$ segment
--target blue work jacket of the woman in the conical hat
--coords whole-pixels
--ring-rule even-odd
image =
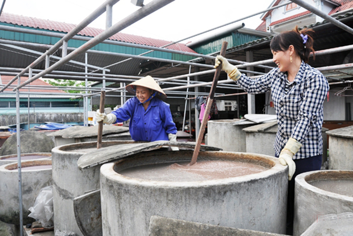
[[[135,141],[169,140],[168,133],[177,133],[169,104],[158,98],[151,100],[146,111],[134,97],[111,113],[116,116],[115,123],[130,119],[130,134]]]

